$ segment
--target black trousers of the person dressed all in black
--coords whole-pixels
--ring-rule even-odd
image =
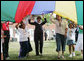
[[[40,53],[42,53],[43,49],[43,33],[39,35],[35,34],[34,42],[35,42],[36,55],[39,55],[39,45],[40,45]]]

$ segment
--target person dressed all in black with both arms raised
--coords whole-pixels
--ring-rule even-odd
[[[46,18],[44,18],[44,20],[45,21],[41,23],[40,16],[37,17],[37,22],[31,22],[31,18],[29,19],[29,24],[35,25],[34,42],[35,42],[36,56],[39,55],[39,44],[40,44],[40,54],[42,55],[42,48],[43,48],[43,29],[42,29],[42,26],[47,22]]]

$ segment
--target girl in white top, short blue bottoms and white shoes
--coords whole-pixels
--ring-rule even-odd
[[[70,56],[75,56],[75,28],[72,23],[69,24],[69,29],[67,33],[67,45],[69,46]]]

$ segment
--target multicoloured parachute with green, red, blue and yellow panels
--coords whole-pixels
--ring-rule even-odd
[[[1,1],[1,21],[19,23],[27,15],[52,12],[83,25],[83,1]]]

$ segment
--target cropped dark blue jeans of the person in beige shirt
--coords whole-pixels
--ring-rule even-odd
[[[56,43],[57,43],[57,49],[56,51],[59,52],[62,47],[62,51],[65,51],[65,44],[66,44],[66,37],[61,34],[56,34]]]

